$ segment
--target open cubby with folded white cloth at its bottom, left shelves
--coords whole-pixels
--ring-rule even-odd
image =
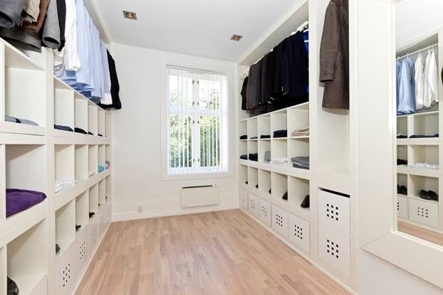
[[[56,144],[54,146],[56,181],[75,180],[75,146]]]

